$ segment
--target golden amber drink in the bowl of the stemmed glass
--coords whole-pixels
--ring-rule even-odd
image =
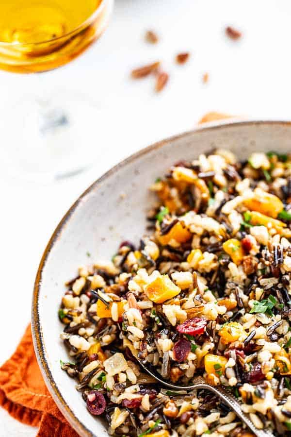
[[[24,73],[69,62],[104,30],[107,4],[106,0],[0,0],[0,68]]]

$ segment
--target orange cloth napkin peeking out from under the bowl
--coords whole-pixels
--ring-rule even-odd
[[[210,112],[199,124],[229,117]],[[78,437],[45,385],[34,355],[30,325],[15,353],[0,368],[0,405],[20,422],[39,426],[38,437]]]

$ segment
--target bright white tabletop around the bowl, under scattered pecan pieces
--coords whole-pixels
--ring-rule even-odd
[[[34,276],[49,236],[97,177],[132,152],[193,128],[211,110],[291,118],[290,17],[288,0],[116,0],[103,37],[70,65],[46,73],[43,84],[52,94],[65,88],[98,102],[93,139],[98,162],[90,171],[51,185],[24,183],[1,169],[0,363],[13,353],[30,320]],[[227,39],[226,25],[241,29],[243,38]],[[146,29],[161,35],[159,44],[144,42]],[[180,51],[191,52],[184,66],[173,62]],[[160,95],[153,92],[152,78],[129,78],[133,67],[156,59],[170,74]],[[206,71],[210,80],[203,85]],[[0,72],[0,126],[5,106],[33,94],[36,81],[33,75]],[[98,130],[100,119],[103,129]],[[0,423],[0,436],[36,435],[35,428],[1,409]]]

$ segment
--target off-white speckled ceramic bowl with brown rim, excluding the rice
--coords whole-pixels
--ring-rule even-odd
[[[60,368],[68,358],[58,319],[66,280],[80,264],[111,259],[122,240],[138,242],[146,229],[152,198],[148,186],[181,159],[194,159],[214,147],[239,158],[252,151],[290,151],[291,124],[241,121],[198,128],[147,147],[118,164],[91,185],[66,213],[41,259],[32,302],[35,353],[49,391],[81,436],[106,436],[106,423],[86,409],[76,382]],[[87,253],[91,257],[87,257]]]

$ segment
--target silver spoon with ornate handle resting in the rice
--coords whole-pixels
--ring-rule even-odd
[[[245,423],[257,437],[274,437],[274,435],[270,431],[258,429],[249,419],[249,417],[245,413],[243,413],[241,405],[237,401],[237,399],[228,391],[226,391],[223,387],[210,386],[210,384],[206,383],[201,376],[197,376],[196,378],[194,378],[193,384],[191,386],[177,386],[161,379],[160,376],[157,376],[151,370],[147,369],[147,367],[140,360],[138,360],[138,362],[149,375],[151,375],[165,387],[169,387],[174,390],[193,390],[194,388],[204,388],[212,391],[212,393],[215,393],[224,403],[226,403],[226,405],[228,405],[236,413],[236,415],[242,420],[242,422]]]

